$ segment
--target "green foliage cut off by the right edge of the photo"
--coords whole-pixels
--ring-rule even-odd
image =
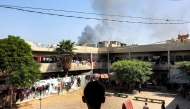
[[[175,69],[180,69],[182,73],[187,73],[190,75],[190,62],[189,61],[183,61],[183,62],[178,62],[175,66]]]

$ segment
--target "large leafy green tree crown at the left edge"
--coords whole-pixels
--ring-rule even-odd
[[[32,49],[20,37],[9,35],[0,39],[0,69],[7,72],[12,85],[30,86],[41,76],[41,64],[33,60]]]

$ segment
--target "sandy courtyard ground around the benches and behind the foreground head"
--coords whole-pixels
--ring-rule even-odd
[[[109,92],[115,92],[115,90],[109,90]],[[182,99],[179,94],[174,96],[164,96],[161,95],[161,93],[166,92],[144,90],[141,93],[129,95],[128,98],[106,96],[106,101],[102,105],[102,109],[122,109],[122,103],[128,99],[132,101],[134,109],[142,109],[145,101],[134,100],[134,96],[163,99],[166,102],[166,109],[175,109],[177,104],[180,106],[180,109],[190,109],[190,101],[187,99]],[[41,109],[87,109],[86,104],[82,102],[82,94],[83,89],[79,89],[70,93],[63,93],[60,95],[42,98]],[[147,101],[147,103],[149,109],[161,108],[160,103],[152,103],[150,101]],[[15,109],[40,109],[40,100],[34,99],[32,101],[21,103],[18,105],[18,108]]]

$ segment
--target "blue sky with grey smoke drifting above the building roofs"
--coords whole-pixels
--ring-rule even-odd
[[[74,16],[63,17],[0,7],[0,38],[14,35],[44,44],[58,44],[62,39],[70,39],[77,44],[106,40],[151,44],[190,32],[189,4],[189,0],[0,0],[0,5],[75,11],[25,8]]]

